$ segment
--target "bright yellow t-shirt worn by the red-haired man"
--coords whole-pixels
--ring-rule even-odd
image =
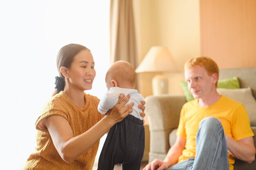
[[[198,99],[194,99],[184,104],[180,113],[177,136],[186,138],[186,145],[178,162],[185,161],[190,157],[195,157],[195,138],[199,128],[199,122],[205,117],[216,117],[220,119],[225,134],[234,138],[236,141],[254,136],[250,128],[247,111],[243,104],[222,95],[215,104],[200,107],[198,106]],[[233,170],[235,159],[232,155],[228,155],[229,169]]]

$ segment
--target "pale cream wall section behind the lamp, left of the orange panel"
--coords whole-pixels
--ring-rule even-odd
[[[167,46],[177,64],[177,73],[168,73],[169,93],[184,94],[180,80],[183,65],[199,56],[199,0],[139,0],[134,1],[140,63],[151,46]],[[152,95],[151,79],[157,73],[139,73],[138,89],[145,97]]]

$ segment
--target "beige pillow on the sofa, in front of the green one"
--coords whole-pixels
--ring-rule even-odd
[[[225,95],[243,104],[248,112],[251,126],[256,126],[256,100],[252,96],[251,88],[217,88],[217,91],[219,94]]]

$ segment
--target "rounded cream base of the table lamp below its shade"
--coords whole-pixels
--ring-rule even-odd
[[[152,79],[153,95],[168,93],[168,78],[165,75],[156,75]]]

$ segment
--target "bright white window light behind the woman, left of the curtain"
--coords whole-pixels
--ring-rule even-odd
[[[56,55],[62,46],[76,43],[91,50],[97,74],[92,90],[85,93],[98,98],[106,93],[109,13],[110,0],[0,2],[3,169],[22,169],[34,152],[34,124],[54,91]]]

